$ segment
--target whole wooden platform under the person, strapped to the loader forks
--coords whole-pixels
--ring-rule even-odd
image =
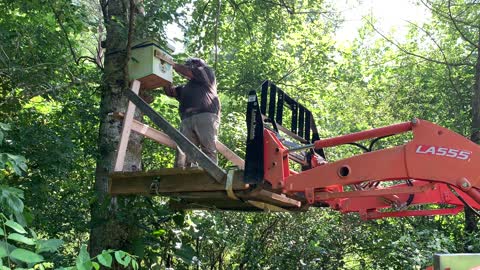
[[[243,171],[232,171],[231,190],[226,179],[219,182],[203,169],[171,168],[147,172],[114,172],[110,175],[112,195],[166,196],[175,209],[219,209],[237,211],[304,211],[297,198],[274,193],[243,182]]]

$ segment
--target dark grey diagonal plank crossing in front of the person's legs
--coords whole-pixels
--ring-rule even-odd
[[[132,101],[138,109],[140,109],[146,116],[148,116],[152,122],[160,127],[178,146],[189,156],[192,160],[195,160],[200,167],[210,174],[217,182],[225,183],[227,174],[218,167],[209,157],[207,157],[197,146],[190,142],[182,133],[174,128],[167,120],[165,120],[160,114],[152,109],[142,98],[140,98],[135,92],[127,90],[125,95]]]

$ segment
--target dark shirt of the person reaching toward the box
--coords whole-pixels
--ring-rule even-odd
[[[193,78],[183,86],[176,87],[180,102],[180,117],[185,119],[199,113],[220,114],[215,73],[210,67],[194,67]]]

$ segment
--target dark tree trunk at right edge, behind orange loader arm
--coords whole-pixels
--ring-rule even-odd
[[[477,61],[475,65],[475,83],[472,95],[472,136],[471,140],[480,144],[480,35],[477,44]],[[475,232],[478,230],[478,218],[472,210],[465,207],[465,231]]]

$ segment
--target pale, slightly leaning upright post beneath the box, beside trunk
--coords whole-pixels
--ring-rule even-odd
[[[140,89],[140,81],[134,80],[132,83],[132,92],[138,94]],[[118,143],[117,157],[115,159],[114,171],[123,171],[123,164],[125,163],[125,154],[127,152],[128,140],[130,138],[130,131],[132,130],[133,116],[135,114],[136,106],[133,102],[128,101],[127,112],[123,118],[122,135]]]

